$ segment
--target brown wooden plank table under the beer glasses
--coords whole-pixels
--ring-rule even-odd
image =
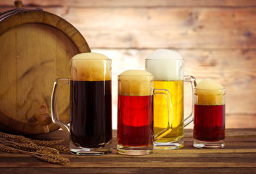
[[[224,149],[195,149],[192,130],[185,130],[185,146],[155,150],[145,156],[125,156],[114,150],[103,156],[63,154],[67,165],[41,162],[25,154],[0,152],[0,173],[256,173],[256,128],[227,129]],[[46,140],[68,138],[63,130],[34,136]]]

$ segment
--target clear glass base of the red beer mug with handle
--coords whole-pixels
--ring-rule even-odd
[[[117,153],[126,155],[146,155],[152,154],[153,146],[122,146],[117,144]]]

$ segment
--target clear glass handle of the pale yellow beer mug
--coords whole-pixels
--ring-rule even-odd
[[[184,76],[184,81],[190,83],[191,91],[192,91],[191,112],[190,112],[189,116],[184,119],[184,127],[186,127],[186,125],[189,125],[189,123],[191,123],[194,120],[194,88],[195,88],[195,86],[197,86],[197,81],[196,81],[196,78],[194,78],[193,76],[189,76],[189,75]]]

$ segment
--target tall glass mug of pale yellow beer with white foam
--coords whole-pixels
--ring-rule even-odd
[[[191,76],[184,76],[184,60],[181,54],[172,50],[157,49],[149,54],[146,58],[146,70],[154,75],[154,88],[165,88],[170,91],[173,105],[173,130],[155,141],[154,149],[179,149],[184,146],[183,127],[193,121],[193,107],[189,117],[184,120],[183,83],[191,83],[193,97],[196,80]],[[166,113],[165,98],[154,96],[154,133],[159,133],[168,124]]]

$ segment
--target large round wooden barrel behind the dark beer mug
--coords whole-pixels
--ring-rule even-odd
[[[85,38],[55,14],[16,7],[0,13],[0,48],[0,130],[57,130],[50,119],[54,80],[70,77],[70,59],[90,51]],[[59,91],[58,107],[69,123],[69,86]]]

